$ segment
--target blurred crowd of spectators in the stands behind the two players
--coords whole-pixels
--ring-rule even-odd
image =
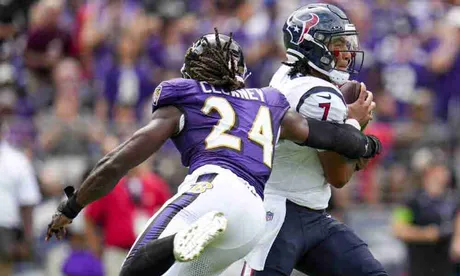
[[[285,57],[284,21],[312,2],[0,1],[0,274],[116,275],[111,267],[187,173],[174,146],[168,142],[91,205],[65,243],[44,243],[62,188],[78,187],[104,153],[149,120],[153,89],[180,77],[197,37],[213,27],[233,32],[252,72],[247,86],[266,86]],[[385,147],[334,190],[331,211],[346,221],[355,206],[398,206],[393,231],[409,254],[415,234],[401,225],[419,224],[430,238],[422,241],[451,237],[460,177],[460,1],[321,2],[344,9],[360,32],[365,59],[354,78],[374,93],[377,112],[366,131]],[[438,208],[442,220],[425,219],[420,202],[449,208]],[[460,236],[457,243],[445,246],[453,260]]]

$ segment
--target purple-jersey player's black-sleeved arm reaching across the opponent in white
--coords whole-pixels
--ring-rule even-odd
[[[293,111],[288,111],[283,118],[280,139],[312,148],[332,150],[351,159],[373,157],[381,149],[380,141],[376,137],[365,136],[353,126],[305,119]]]

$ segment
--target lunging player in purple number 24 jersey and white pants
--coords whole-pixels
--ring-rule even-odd
[[[187,51],[183,78],[154,91],[153,117],[103,157],[78,191],[67,187],[46,239],[128,170],[172,139],[189,167],[178,193],[149,220],[121,275],[218,275],[257,244],[265,226],[262,197],[278,139],[372,157],[380,142],[349,125],[305,119],[276,89],[244,88],[246,65],[231,35],[208,34]],[[371,102],[362,101],[359,116]],[[356,118],[360,119],[360,118]]]

